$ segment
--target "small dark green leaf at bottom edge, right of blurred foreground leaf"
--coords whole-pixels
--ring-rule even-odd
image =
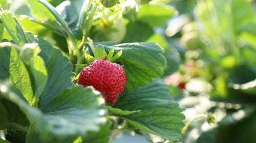
[[[82,142],[90,143],[109,143],[109,136],[111,122],[106,122],[106,124],[100,126],[98,132],[89,131],[85,136],[82,137]]]

